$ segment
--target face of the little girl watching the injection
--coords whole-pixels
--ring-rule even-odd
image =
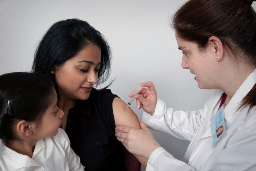
[[[64,112],[57,107],[57,94],[54,90],[52,104],[45,110],[40,124],[35,128],[37,139],[57,135],[63,115]]]

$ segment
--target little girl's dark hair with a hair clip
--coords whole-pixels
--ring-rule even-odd
[[[42,114],[53,102],[53,93],[52,81],[42,74],[13,72],[1,75],[0,139],[17,139],[13,130],[20,120],[39,124]]]

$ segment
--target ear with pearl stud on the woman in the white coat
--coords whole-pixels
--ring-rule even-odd
[[[223,58],[223,44],[218,37],[211,36],[208,39],[208,48],[215,56],[216,61],[221,61]]]

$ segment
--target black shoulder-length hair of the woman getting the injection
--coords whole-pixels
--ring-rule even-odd
[[[110,74],[110,47],[102,34],[86,21],[67,19],[54,23],[42,37],[35,51],[32,72],[43,73],[55,83],[54,65],[62,66],[90,43],[101,49],[101,65],[98,72],[98,84],[105,82]]]

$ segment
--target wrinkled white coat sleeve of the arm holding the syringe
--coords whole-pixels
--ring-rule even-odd
[[[158,99],[154,115],[151,116],[144,112],[142,121],[153,130],[191,141],[203,122],[208,103],[204,109],[185,112],[166,108],[166,104]]]

